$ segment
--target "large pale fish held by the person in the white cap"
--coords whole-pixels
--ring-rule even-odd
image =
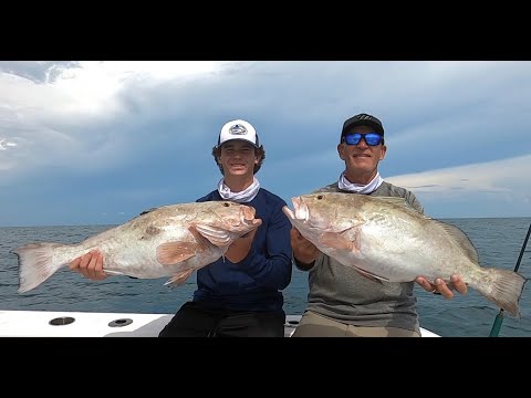
[[[95,249],[104,254],[107,275],[169,276],[165,285],[175,287],[222,256],[235,240],[257,229],[262,221],[254,216],[254,208],[231,201],[178,203],[143,212],[76,244],[29,243],[11,251],[19,261],[18,291],[39,286]]]

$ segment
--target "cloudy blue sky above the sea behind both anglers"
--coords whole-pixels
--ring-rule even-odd
[[[236,118],[264,146],[260,185],[291,205],[337,180],[358,113],[384,125],[381,176],[427,216],[531,216],[530,61],[0,61],[0,227],[195,201]]]

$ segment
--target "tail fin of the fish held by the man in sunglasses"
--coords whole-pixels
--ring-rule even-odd
[[[477,290],[500,308],[507,311],[513,317],[520,318],[519,302],[528,279],[510,270],[493,268],[483,270],[488,271],[490,285],[488,291],[485,286]]]

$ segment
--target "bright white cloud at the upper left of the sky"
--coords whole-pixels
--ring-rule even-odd
[[[147,128],[138,130],[157,117],[143,105],[159,105],[157,97],[167,97],[167,81],[183,82],[216,67],[214,62],[184,61],[0,63],[6,94],[0,103],[0,170],[12,172],[0,175],[0,182],[42,167],[98,170],[125,161],[134,156],[132,147],[149,138]],[[138,94],[145,97],[135,108],[128,98]]]

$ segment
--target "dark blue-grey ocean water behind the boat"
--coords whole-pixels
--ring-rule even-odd
[[[468,234],[478,250],[480,264],[513,270],[531,218],[446,219]],[[51,241],[75,243],[113,226],[8,227],[0,228],[0,310],[93,311],[122,313],[175,313],[191,298],[195,275],[177,289],[163,286],[165,279],[134,280],[112,276],[93,282],[67,268],[59,270],[37,289],[19,294],[17,256],[9,251],[21,244]],[[531,277],[531,242],[519,272]],[[521,318],[504,314],[500,337],[531,336],[531,292],[527,285]],[[499,308],[469,289],[452,300],[416,289],[420,325],[446,337],[487,337]],[[308,274],[293,269],[284,291],[287,314],[302,314],[308,295]]]

